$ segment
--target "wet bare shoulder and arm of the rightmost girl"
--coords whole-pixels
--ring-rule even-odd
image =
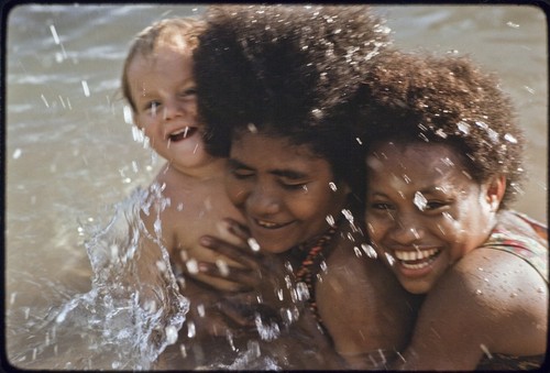
[[[548,286],[524,260],[476,249],[427,295],[405,370],[474,370],[483,354],[546,351]]]

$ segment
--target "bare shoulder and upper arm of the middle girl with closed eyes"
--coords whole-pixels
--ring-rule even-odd
[[[316,300],[337,351],[352,367],[370,367],[370,354],[384,360],[384,353],[403,350],[410,337],[416,299],[384,263],[358,256],[353,246],[331,255]]]

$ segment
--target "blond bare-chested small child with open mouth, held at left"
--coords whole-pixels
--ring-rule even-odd
[[[202,248],[199,237],[231,240],[233,235],[224,234],[221,218],[242,219],[224,191],[226,158],[209,152],[208,134],[197,117],[193,52],[202,29],[204,23],[195,19],[167,19],[144,29],[124,62],[122,91],[135,125],[166,160],[140,209],[144,228],[138,265],[141,278],[146,282],[164,270],[155,265],[162,263],[164,246],[176,276],[186,273],[185,282],[182,276],[178,279],[183,295],[190,300],[187,327],[195,330],[206,311],[210,317],[205,325],[208,333],[222,334],[222,325],[216,322],[217,298],[208,286],[232,290],[234,284],[201,275],[196,263],[205,261],[221,270],[239,265]],[[194,276],[201,286],[195,286]]]

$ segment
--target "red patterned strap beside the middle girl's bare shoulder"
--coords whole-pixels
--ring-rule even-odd
[[[304,244],[297,248],[297,254],[301,257],[300,267],[296,272],[298,282],[306,284],[309,292],[309,308],[314,312],[317,321],[322,326],[321,318],[317,309],[317,301],[315,295],[315,284],[319,270],[322,267],[323,261],[329,256],[332,248],[329,246],[338,227],[331,227],[326,231],[311,246]]]

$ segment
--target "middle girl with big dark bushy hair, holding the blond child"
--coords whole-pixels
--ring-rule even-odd
[[[364,169],[349,101],[355,67],[383,48],[384,28],[363,6],[216,7],[207,15],[195,54],[199,109],[226,140],[227,191],[253,240],[250,249],[204,243],[248,268],[226,274],[248,285],[244,307],[271,307],[286,321],[297,289],[307,289],[299,316],[312,315],[329,341],[290,347],[299,367],[386,366],[408,341],[414,307],[362,245]]]

